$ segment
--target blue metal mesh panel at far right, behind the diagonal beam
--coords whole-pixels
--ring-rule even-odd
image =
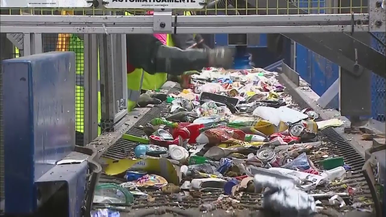
[[[372,46],[377,51],[385,53],[384,44],[386,43],[386,36],[384,32],[375,32],[375,37],[378,37],[379,41],[375,38],[372,39]],[[380,42],[382,41],[383,44]],[[371,85],[371,101],[372,101],[372,117],[381,122],[386,121],[386,82],[385,79],[376,74],[372,74]]]

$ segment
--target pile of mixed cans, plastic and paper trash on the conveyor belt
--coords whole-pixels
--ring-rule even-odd
[[[94,216],[116,216],[107,213],[127,207],[111,204],[139,208],[156,195],[169,195],[177,207],[217,195],[198,205],[202,212],[244,209],[240,200],[248,194],[259,195],[254,203],[261,209],[291,216],[369,209],[364,200],[348,204],[360,191],[342,181],[352,176],[350,165],[318,136],[342,121],[316,121],[317,112],[298,110],[276,76],[260,68],[207,68],[188,89],[168,93],[169,114],[138,126],[146,136],[136,140],[132,157],[103,159],[114,183],[98,185],[94,204],[102,207]],[[339,192],[328,191],[336,185]]]

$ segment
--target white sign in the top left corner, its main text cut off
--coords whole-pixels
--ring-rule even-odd
[[[92,3],[87,0],[0,0],[2,8],[85,8]]]

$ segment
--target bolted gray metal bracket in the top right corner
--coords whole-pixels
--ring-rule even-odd
[[[386,0],[369,0],[369,31],[385,32]]]

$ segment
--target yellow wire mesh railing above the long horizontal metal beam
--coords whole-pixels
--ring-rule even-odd
[[[245,2],[249,3],[245,3]],[[368,0],[224,0],[223,3],[207,0],[208,4],[212,3],[213,8],[204,7],[199,10],[191,10],[197,15],[218,15],[218,14],[237,14],[254,15],[254,14],[304,14],[303,10],[310,14],[350,14],[367,13]],[[334,2],[336,5],[334,5]],[[225,3],[225,4],[224,4]],[[223,6],[223,7],[222,7]],[[107,15],[109,13],[121,14],[122,9],[96,9],[96,8],[9,8],[7,14],[45,14],[60,15],[62,11],[74,15]],[[130,14],[143,15],[146,10],[130,9]],[[4,14],[2,9],[2,14]]]

